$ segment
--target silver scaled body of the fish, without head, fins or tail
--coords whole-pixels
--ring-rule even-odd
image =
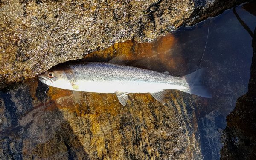
[[[163,89],[185,89],[184,78],[111,63],[69,65],[78,91],[98,93],[151,93]]]

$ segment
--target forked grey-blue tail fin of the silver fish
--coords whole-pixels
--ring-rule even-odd
[[[183,78],[186,79],[186,83],[184,84],[186,86],[186,89],[180,90],[184,91],[186,93],[195,94],[201,97],[206,98],[212,98],[212,94],[209,92],[209,90],[202,85],[202,77],[204,75],[205,69],[198,69],[197,71],[188,74],[186,76],[183,76]]]

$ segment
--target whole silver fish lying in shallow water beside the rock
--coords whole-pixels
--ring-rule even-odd
[[[38,75],[38,79],[52,87],[72,90],[80,102],[79,91],[116,94],[125,106],[129,93],[150,93],[157,101],[165,104],[169,89],[211,98],[209,90],[202,85],[203,69],[183,77],[112,62],[70,63],[52,67]]]

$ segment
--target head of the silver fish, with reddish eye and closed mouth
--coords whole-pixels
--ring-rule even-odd
[[[53,67],[48,71],[38,75],[38,79],[48,85],[62,89],[68,89],[74,81],[74,74],[67,67]]]

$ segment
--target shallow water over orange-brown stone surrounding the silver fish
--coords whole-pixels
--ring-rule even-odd
[[[254,31],[256,17],[241,6],[236,12]],[[198,69],[208,20],[159,37],[132,40],[89,54],[80,61],[108,61],[125,54],[126,63],[183,76]],[[81,93],[50,87],[37,77],[0,91],[0,156],[64,159],[219,159],[226,116],[247,92],[252,37],[233,10],[210,19],[200,67],[212,99],[169,91],[162,106],[150,94],[129,94],[128,105],[114,94]],[[47,116],[47,118],[46,118]],[[48,121],[48,120],[49,121]]]

